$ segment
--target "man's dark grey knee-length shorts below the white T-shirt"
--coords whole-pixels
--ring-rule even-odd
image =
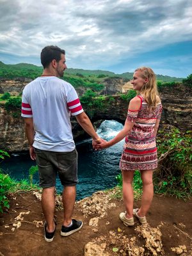
[[[63,186],[75,186],[77,178],[77,150],[71,152],[53,152],[35,148],[40,187],[50,188],[56,185],[58,173]]]

